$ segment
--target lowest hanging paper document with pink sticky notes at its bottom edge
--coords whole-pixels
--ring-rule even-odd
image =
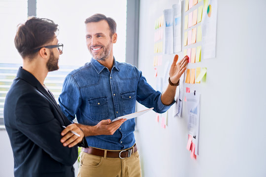
[[[188,108],[188,134],[192,137],[191,144],[195,147],[192,151],[195,155],[199,155],[199,108],[200,93],[186,93]]]

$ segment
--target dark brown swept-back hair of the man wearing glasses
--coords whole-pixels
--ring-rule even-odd
[[[34,49],[52,41],[56,31],[58,25],[52,20],[33,17],[18,26],[15,47],[22,58],[32,58],[35,54]]]

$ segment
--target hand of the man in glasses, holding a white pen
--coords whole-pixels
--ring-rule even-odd
[[[77,134],[80,135],[80,137],[78,137],[77,135],[74,135],[72,132],[76,132]],[[84,133],[83,131],[75,124],[72,123],[70,125],[68,125],[62,132],[61,135],[63,136],[61,139],[61,143],[63,144],[63,146],[68,146],[68,148],[71,148],[75,145],[77,145],[78,143],[80,143],[83,140],[84,137]]]

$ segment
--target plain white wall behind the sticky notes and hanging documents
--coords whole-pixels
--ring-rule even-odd
[[[174,3],[140,0],[138,68],[154,88],[154,23]],[[185,114],[173,118],[171,108],[163,129],[148,113],[137,118],[135,131],[143,177],[266,176],[265,6],[265,0],[218,0],[216,58],[193,65],[207,67],[205,83],[185,84],[201,93],[199,156],[191,159],[186,149]]]

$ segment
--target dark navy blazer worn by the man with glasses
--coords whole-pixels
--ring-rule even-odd
[[[60,142],[62,125],[70,123],[53,96],[20,67],[4,102],[15,177],[74,177],[77,146]]]

